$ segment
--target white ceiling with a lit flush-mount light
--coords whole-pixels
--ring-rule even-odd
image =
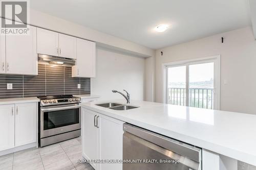
[[[31,0],[30,6],[154,49],[251,25],[248,0]],[[170,28],[155,32],[160,24]]]

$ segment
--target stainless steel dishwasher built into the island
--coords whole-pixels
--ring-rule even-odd
[[[201,148],[130,124],[123,130],[123,170],[202,169]]]

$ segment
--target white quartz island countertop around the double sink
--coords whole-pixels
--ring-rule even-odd
[[[95,105],[105,102],[124,100],[81,106],[256,166],[256,115],[141,101],[131,101],[140,107],[125,111]]]

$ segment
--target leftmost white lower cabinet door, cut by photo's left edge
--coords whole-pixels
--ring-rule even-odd
[[[14,147],[14,105],[0,105],[0,151]]]

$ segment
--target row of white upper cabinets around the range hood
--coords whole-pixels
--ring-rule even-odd
[[[37,54],[76,59],[72,77],[96,77],[96,43],[29,26],[27,35],[0,35],[0,74],[37,75]]]

